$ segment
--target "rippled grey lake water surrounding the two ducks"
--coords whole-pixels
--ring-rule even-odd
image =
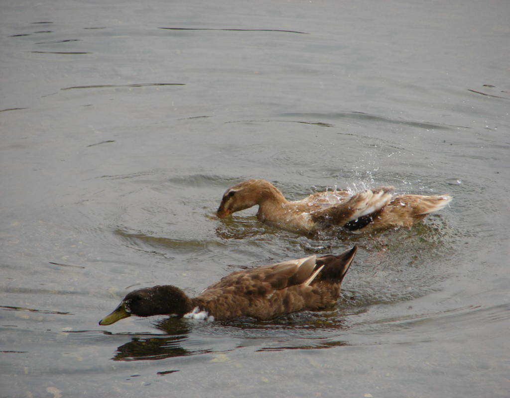
[[[3,397],[510,396],[510,3],[6,0]],[[304,237],[223,192],[451,194]],[[335,308],[97,322],[130,290],[359,251]]]

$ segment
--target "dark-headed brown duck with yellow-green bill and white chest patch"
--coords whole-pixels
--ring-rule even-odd
[[[356,250],[354,246],[339,255],[313,255],[236,271],[195,298],[172,285],[134,290],[99,325],[111,325],[131,315],[208,321],[249,316],[270,320],[291,312],[320,310],[336,304]]]

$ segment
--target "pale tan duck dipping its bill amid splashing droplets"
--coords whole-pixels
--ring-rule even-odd
[[[445,207],[449,195],[397,195],[393,187],[361,192],[317,192],[288,201],[273,184],[264,180],[246,180],[227,189],[217,211],[219,218],[259,205],[259,221],[301,234],[314,234],[334,227],[354,233],[378,229],[411,227],[433,211]]]

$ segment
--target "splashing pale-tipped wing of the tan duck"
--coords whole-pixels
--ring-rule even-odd
[[[391,200],[393,187],[380,187],[357,192],[343,203],[312,211],[312,221],[324,226],[343,226],[350,221],[377,213]]]

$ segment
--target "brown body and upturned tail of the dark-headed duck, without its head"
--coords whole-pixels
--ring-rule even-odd
[[[222,321],[240,316],[270,320],[285,313],[324,308],[338,299],[355,252],[354,247],[339,256],[313,255],[234,272],[208,287],[192,303]],[[322,275],[323,271],[327,272]]]

